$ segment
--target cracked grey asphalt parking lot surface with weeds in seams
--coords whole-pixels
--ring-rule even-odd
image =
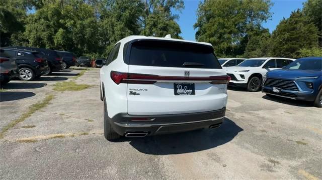
[[[322,179],[322,109],[229,88],[218,129],[110,142],[99,69],[82,72],[0,92],[0,179]],[[69,81],[90,86],[53,90]]]

